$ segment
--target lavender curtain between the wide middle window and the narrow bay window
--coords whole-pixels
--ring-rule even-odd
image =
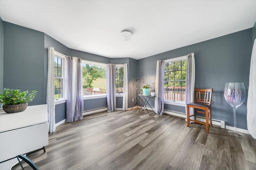
[[[116,66],[107,64],[107,105],[108,112],[116,111]]]

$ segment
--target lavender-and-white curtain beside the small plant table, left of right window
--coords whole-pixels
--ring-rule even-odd
[[[156,98],[155,113],[164,114],[164,60],[158,60],[156,63]]]

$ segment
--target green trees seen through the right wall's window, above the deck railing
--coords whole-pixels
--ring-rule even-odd
[[[187,61],[175,61],[164,64],[164,87],[185,87],[186,86]]]

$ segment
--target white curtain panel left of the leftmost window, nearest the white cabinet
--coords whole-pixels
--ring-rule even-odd
[[[47,106],[48,131],[54,132],[55,126],[55,99],[54,99],[54,48],[48,48],[48,79],[47,79]]]

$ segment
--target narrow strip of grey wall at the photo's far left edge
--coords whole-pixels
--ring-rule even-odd
[[[0,94],[3,92],[4,80],[4,21],[0,17]]]

